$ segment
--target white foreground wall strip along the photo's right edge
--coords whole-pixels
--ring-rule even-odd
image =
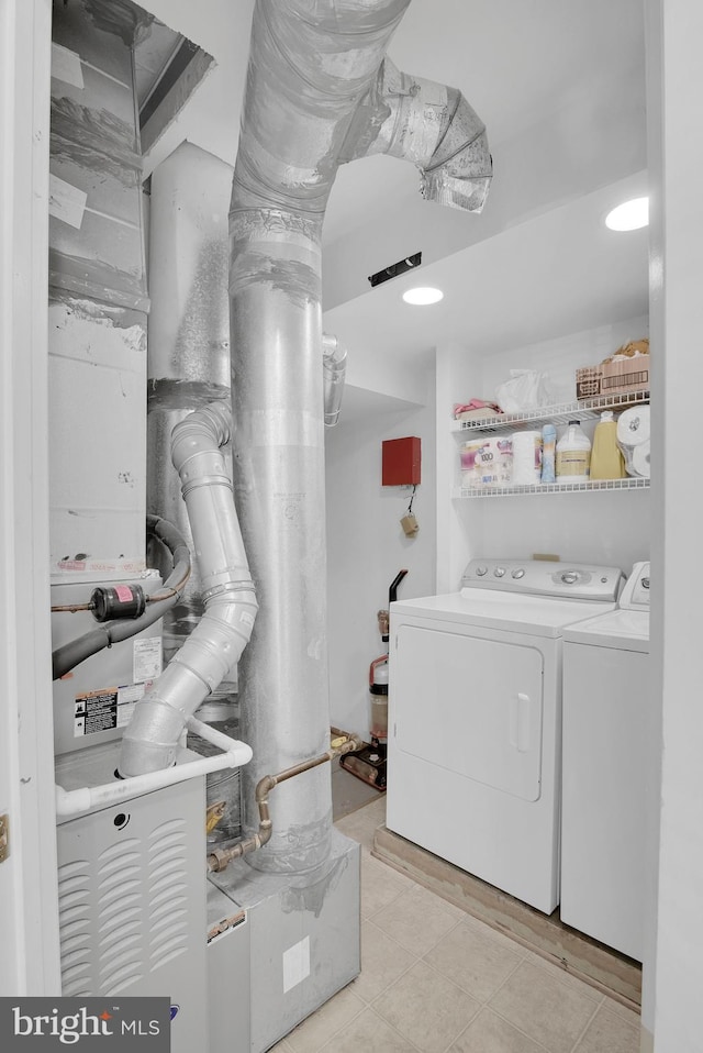
[[[649,1029],[654,1017],[656,1053],[698,1053],[703,990],[703,647],[694,589],[701,545],[695,458],[701,429],[696,397],[703,390],[703,137],[694,112],[703,93],[703,7],[648,0],[647,11],[655,175],[650,318],[652,342],[660,352],[655,378],[666,387],[652,404],[659,440],[654,467],[663,469],[662,484],[652,494],[652,578],[660,594],[654,597],[651,625],[656,683],[662,688],[663,754],[656,975],[651,961],[646,962],[643,1023]],[[650,1048],[643,1043],[643,1050]]]

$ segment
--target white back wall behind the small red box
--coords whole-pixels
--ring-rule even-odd
[[[425,377],[427,407],[398,412],[380,406],[373,415],[344,421],[326,432],[327,619],[332,722],[368,740],[369,665],[386,646],[377,611],[388,607],[388,589],[400,569],[408,576],[399,598],[435,591],[434,372]],[[420,523],[405,537],[400,519],[412,490],[381,486],[381,443],[417,435],[422,440],[422,483],[413,512]]]

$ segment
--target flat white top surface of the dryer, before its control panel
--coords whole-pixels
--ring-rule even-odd
[[[613,610],[613,602],[547,599],[543,596],[464,588],[460,592],[398,600],[390,606],[393,625],[403,616],[457,625],[480,625],[503,632],[560,636],[565,625]],[[439,628],[439,627],[438,627]]]

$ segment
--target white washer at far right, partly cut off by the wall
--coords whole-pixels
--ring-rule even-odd
[[[654,738],[649,564],[563,631],[561,920],[641,962]]]

